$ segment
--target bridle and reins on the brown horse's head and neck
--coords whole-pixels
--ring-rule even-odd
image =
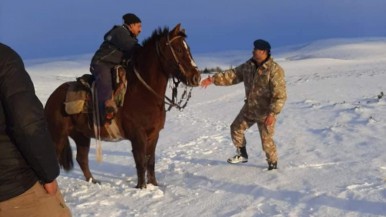
[[[180,37],[182,37],[182,36],[177,35],[174,38],[172,38],[171,40],[169,40],[169,34],[167,34],[166,46],[170,48],[170,51],[173,54],[174,61],[177,64],[180,73],[182,75],[186,76],[186,71],[182,67],[182,64],[180,63],[180,61],[178,60],[176,52],[174,51],[173,46],[172,46],[172,42]],[[165,59],[165,56],[161,53],[160,42],[157,41],[155,46],[156,46],[156,51],[157,51],[157,57],[160,59],[162,59],[162,58]],[[163,61],[161,60],[161,64],[162,63],[163,63]],[[180,81],[180,79],[178,79],[175,76],[172,77],[172,79],[173,79],[172,98],[170,99],[166,95],[165,95],[165,97],[161,97],[157,92],[155,92],[154,89],[152,87],[150,87],[146,83],[146,81],[142,78],[142,76],[138,73],[138,70],[135,68],[135,66],[134,66],[134,74],[137,76],[138,80],[146,87],[146,89],[148,89],[157,98],[164,100],[165,104],[169,105],[169,108],[167,109],[167,111],[170,111],[173,107],[177,108],[180,111],[183,110],[186,107],[186,105],[188,104],[188,102],[192,96],[193,87],[191,87],[190,90],[188,91],[188,87],[185,86],[185,90],[182,93],[180,100],[178,100],[178,97],[177,97],[178,96],[178,85],[181,83],[181,81]]]

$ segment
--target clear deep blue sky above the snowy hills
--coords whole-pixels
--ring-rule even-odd
[[[24,58],[93,53],[127,12],[143,23],[139,39],[182,23],[193,55],[273,47],[325,38],[386,36],[384,0],[1,0],[0,42]]]

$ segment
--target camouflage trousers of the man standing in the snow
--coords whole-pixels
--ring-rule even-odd
[[[261,118],[263,120],[265,118]],[[275,123],[272,126],[265,126],[263,121],[250,120],[245,117],[244,112],[241,111],[237,115],[236,119],[231,125],[231,137],[233,144],[237,147],[246,146],[246,140],[244,133],[254,124],[257,124],[260,133],[261,144],[263,146],[263,151],[267,157],[267,162],[277,162],[277,152],[276,145],[273,141],[273,135],[275,133]]]

